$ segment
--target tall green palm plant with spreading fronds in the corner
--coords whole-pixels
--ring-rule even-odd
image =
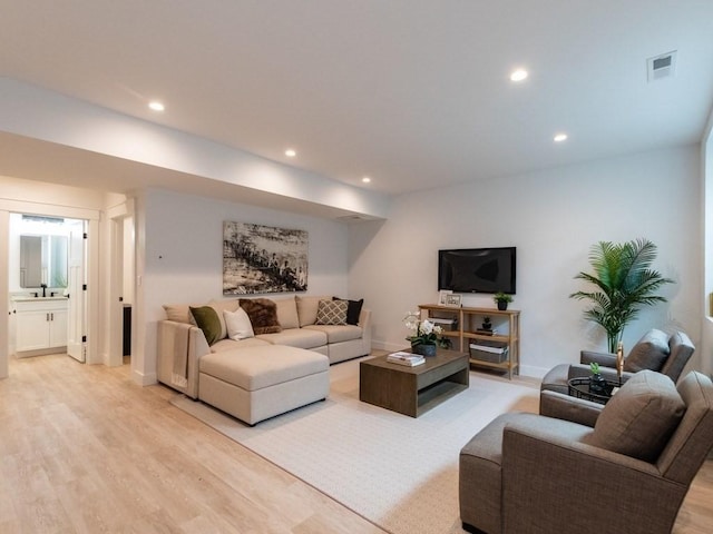
[[[599,241],[589,253],[594,273],[575,276],[596,286],[593,291],[576,291],[569,297],[593,303],[584,315],[604,328],[612,354],[616,353],[624,327],[638,316],[642,306],[666,301],[655,291],[674,280],[651,268],[655,258],[656,245],[648,239],[623,244]]]

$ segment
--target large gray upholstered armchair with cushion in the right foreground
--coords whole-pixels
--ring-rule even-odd
[[[463,527],[670,533],[713,445],[711,379],[692,372],[676,388],[667,376],[644,370],[606,406],[543,395],[554,398],[549,415],[582,422],[504,414],[478,433],[460,453]]]

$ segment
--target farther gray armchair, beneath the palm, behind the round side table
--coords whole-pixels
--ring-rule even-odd
[[[651,329],[632,347],[624,359],[622,382],[628,380],[634,373],[651,369],[668,376],[674,383],[681,377],[683,368],[691,359],[695,347],[683,332],[675,332],[671,336],[658,329]],[[579,364],[560,364],[553,367],[543,378],[543,390],[567,394],[567,383],[570,378],[592,375],[589,364],[599,364],[599,373],[607,380],[616,380],[616,355],[582,350]]]

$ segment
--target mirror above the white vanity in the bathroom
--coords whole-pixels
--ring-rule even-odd
[[[67,236],[20,236],[20,287],[67,287]]]

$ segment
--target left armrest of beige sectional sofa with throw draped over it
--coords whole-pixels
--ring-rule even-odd
[[[158,323],[158,380],[192,398],[198,396],[198,360],[211,352],[201,328],[174,320]]]

